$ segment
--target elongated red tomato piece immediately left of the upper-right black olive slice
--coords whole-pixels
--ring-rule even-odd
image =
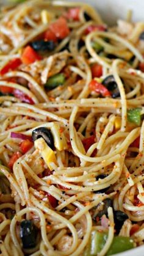
[[[98,82],[96,80],[92,80],[90,82],[89,88],[93,92],[101,93],[101,95],[103,95],[104,97],[109,97],[110,96],[109,90],[107,90],[107,88],[105,86],[103,86],[103,84],[101,84],[100,82]]]

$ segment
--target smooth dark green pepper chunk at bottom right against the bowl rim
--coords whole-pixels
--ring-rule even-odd
[[[118,254],[119,252],[124,252],[132,248],[134,248],[134,241],[131,238],[126,236],[115,236],[112,245],[107,252],[107,256]]]

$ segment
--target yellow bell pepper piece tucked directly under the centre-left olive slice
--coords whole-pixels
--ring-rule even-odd
[[[57,159],[54,154],[54,151],[46,144],[45,140],[40,137],[34,142],[35,148],[41,153],[42,158],[44,159],[45,163],[52,170],[51,164],[54,163],[57,165]]]

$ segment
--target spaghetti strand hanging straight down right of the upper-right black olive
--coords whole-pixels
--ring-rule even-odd
[[[120,77],[118,76],[118,65],[122,64],[122,60],[114,60],[112,64],[113,76],[117,82],[118,89],[121,96],[121,131],[126,130],[126,119],[127,119],[127,104],[126,104],[126,94],[124,92],[123,83],[121,82]]]

